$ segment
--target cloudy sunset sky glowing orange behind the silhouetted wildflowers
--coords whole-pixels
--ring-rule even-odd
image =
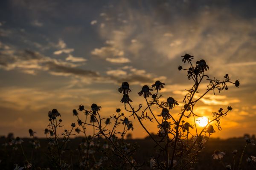
[[[134,108],[146,105],[137,94],[143,85],[164,82],[163,100],[172,96],[180,103],[172,111],[177,116],[192,86],[177,70],[188,67],[180,57],[186,53],[194,63],[205,59],[211,78],[240,80],[239,88],[210,92],[196,105],[195,112],[208,118],[232,106],[212,136],[255,133],[255,6],[253,0],[1,0],[0,135],[29,136],[32,128],[44,137],[53,108],[67,129],[79,105],[96,103],[102,117],[116,108],[129,116],[117,91],[124,81]],[[147,136],[130,120],[134,138]],[[145,126],[157,132],[155,122]]]

